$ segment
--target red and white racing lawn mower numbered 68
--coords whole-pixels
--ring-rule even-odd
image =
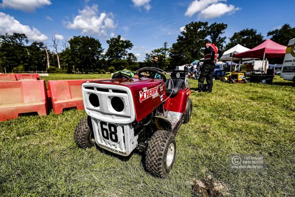
[[[97,145],[120,156],[138,149],[145,152],[148,172],[168,176],[176,157],[175,135],[191,117],[187,70],[174,70],[166,79],[158,69],[145,67],[133,78],[85,82],[82,95],[88,116],[74,132],[79,147]]]

